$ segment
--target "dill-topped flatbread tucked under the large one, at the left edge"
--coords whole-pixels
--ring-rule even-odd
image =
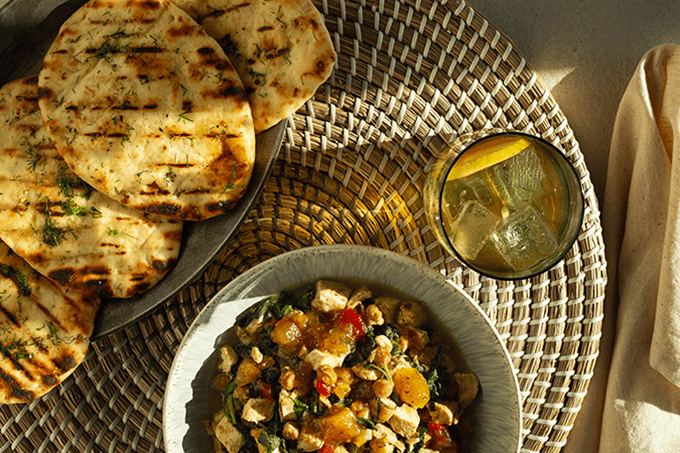
[[[37,79],[0,88],[0,238],[76,291],[132,297],[152,288],[177,261],[183,222],[125,207],[76,176],[47,134]]]

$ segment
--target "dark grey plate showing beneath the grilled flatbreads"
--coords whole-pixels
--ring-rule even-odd
[[[0,85],[37,74],[59,27],[84,3],[84,0],[9,0],[0,8]],[[102,301],[93,339],[138,321],[201,275],[234,236],[262,192],[284,131],[285,122],[281,122],[257,135],[255,169],[236,209],[203,222],[186,222],[179,260],[158,285],[139,297]]]

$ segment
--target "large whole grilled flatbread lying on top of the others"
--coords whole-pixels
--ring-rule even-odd
[[[238,73],[167,0],[91,0],[40,71],[40,108],[85,182],[126,206],[183,220],[231,210],[255,162]]]

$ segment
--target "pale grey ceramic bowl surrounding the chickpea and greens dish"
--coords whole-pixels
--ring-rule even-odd
[[[480,380],[470,453],[516,453],[521,443],[519,387],[510,356],[484,312],[435,270],[383,249],[309,247],[271,258],[235,278],[203,308],[175,356],[165,391],[167,453],[212,451],[204,421],[220,407],[211,388],[225,332],[246,308],[282,289],[320,278],[380,282],[425,302],[451,329]],[[370,287],[370,286],[369,286]]]

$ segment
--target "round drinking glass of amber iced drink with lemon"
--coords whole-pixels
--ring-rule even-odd
[[[553,267],[583,221],[583,192],[569,159],[546,140],[514,130],[476,131],[449,143],[423,197],[445,249],[502,280]]]

